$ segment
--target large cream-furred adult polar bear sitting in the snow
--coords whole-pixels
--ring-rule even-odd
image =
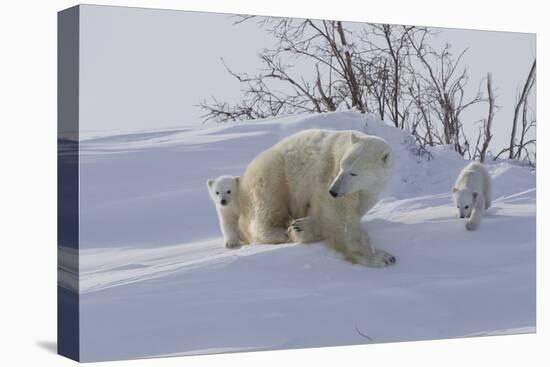
[[[381,267],[361,217],[391,177],[392,150],[357,131],[305,130],[260,153],[239,186],[239,228],[248,243],[327,241],[354,263]]]

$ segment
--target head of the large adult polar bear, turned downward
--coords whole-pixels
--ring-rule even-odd
[[[352,132],[338,168],[329,188],[335,198],[369,187],[383,188],[392,173],[392,149],[382,138]]]

